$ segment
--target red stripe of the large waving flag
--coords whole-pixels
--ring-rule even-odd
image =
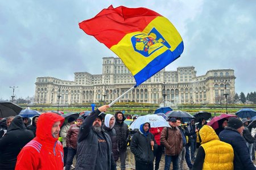
[[[79,23],[79,27],[111,48],[118,44],[127,33],[143,31],[157,16],[162,15],[147,8],[124,6],[113,8],[110,6],[94,18]]]

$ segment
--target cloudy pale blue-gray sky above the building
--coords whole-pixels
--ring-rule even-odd
[[[175,25],[184,52],[166,70],[234,69],[236,92],[256,91],[256,1],[9,0],[0,3],[0,99],[10,99],[9,86],[19,86],[16,97],[33,96],[38,76],[101,74],[102,57],[115,54],[78,24],[110,5],[150,8]]]

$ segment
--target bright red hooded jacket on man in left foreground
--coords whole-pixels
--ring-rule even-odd
[[[56,113],[43,113],[38,118],[36,137],[20,151],[15,170],[63,169],[63,147],[58,138],[52,136],[52,125],[64,118]]]

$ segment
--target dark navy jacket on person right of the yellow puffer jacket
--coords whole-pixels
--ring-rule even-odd
[[[250,159],[245,139],[236,129],[225,127],[218,136],[222,142],[229,143],[234,150],[234,170],[256,169]]]

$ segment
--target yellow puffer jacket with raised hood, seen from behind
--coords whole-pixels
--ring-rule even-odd
[[[199,131],[204,148],[203,169],[233,169],[234,151],[231,145],[221,142],[212,127],[205,125]]]

